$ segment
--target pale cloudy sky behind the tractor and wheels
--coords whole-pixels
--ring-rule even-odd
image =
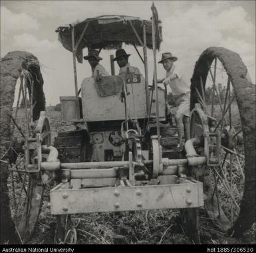
[[[154,1],[162,21],[163,52],[178,57],[185,80],[190,83],[195,62],[210,46],[237,52],[255,84],[255,1]],[[58,41],[55,29],[100,15],[130,15],[150,19],[152,1],[1,1],[1,58],[14,50],[33,53],[41,63],[47,105],[59,103],[60,96],[74,96],[72,53]],[[132,66],[144,73],[144,65],[133,46],[123,46]],[[138,48],[142,53],[142,48]],[[100,62],[110,73],[110,54],[102,50]],[[84,54],[87,49],[84,49]],[[119,68],[115,65],[116,73]],[[149,82],[154,69],[148,50]],[[91,75],[87,61],[77,63],[78,86]],[[165,70],[158,64],[158,78]]]

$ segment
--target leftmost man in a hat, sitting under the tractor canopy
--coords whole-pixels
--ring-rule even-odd
[[[99,63],[102,58],[98,56],[98,54],[98,50],[90,49],[88,50],[88,55],[84,56],[84,60],[88,60],[90,63],[92,68],[92,76],[109,76],[104,66]]]

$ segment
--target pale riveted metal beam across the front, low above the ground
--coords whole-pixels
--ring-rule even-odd
[[[78,201],[82,200],[82,201]],[[203,184],[180,179],[180,184],[70,189],[61,183],[51,190],[51,213],[141,211],[184,209],[203,206]]]

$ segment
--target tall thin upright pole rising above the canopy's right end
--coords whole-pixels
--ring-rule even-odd
[[[158,134],[158,143],[160,143],[160,121],[159,121],[159,104],[158,104],[158,82],[157,82],[157,74],[156,74],[156,31],[155,31],[155,26],[156,26],[156,20],[155,20],[155,5],[152,3],[152,44],[153,44],[153,55],[154,55],[154,89],[156,92],[156,122],[157,122],[157,134]]]

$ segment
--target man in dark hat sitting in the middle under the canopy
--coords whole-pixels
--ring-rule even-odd
[[[126,54],[126,51],[122,48],[116,50],[116,58],[113,59],[117,61],[118,66],[120,67],[119,74],[140,74],[140,70],[134,66],[130,66],[128,62],[130,54]],[[129,73],[128,73],[129,72]]]

